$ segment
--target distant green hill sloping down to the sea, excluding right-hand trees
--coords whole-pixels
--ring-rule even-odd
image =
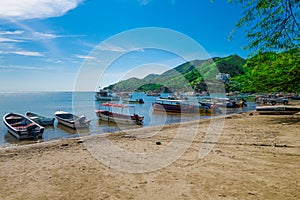
[[[150,74],[144,79],[130,78],[110,85],[107,88],[117,92],[124,91],[202,91],[208,82],[217,82],[219,73],[230,74],[231,77],[243,74],[242,66],[246,60],[238,55],[207,60],[193,60],[183,63],[163,74]],[[204,83],[205,81],[205,83]]]

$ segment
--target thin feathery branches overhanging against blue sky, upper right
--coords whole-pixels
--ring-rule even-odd
[[[299,48],[299,0],[228,1],[241,4],[244,9],[243,17],[236,24],[236,28],[244,25],[248,27],[246,33],[249,44],[246,48],[259,52]]]

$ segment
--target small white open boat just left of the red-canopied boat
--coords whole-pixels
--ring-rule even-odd
[[[54,116],[56,117],[58,123],[73,129],[88,128],[91,122],[91,120],[86,119],[84,115],[79,117],[65,111],[56,111]]]

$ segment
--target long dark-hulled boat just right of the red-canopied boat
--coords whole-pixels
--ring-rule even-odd
[[[170,113],[196,113],[197,108],[186,100],[158,98],[152,103],[155,111]]]

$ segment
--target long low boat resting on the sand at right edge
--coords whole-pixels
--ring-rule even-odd
[[[293,115],[300,112],[299,106],[257,106],[260,115]]]

